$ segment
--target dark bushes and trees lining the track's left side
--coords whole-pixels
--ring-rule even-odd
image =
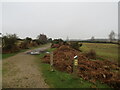
[[[20,39],[16,34],[2,35],[2,52],[13,53],[18,52],[21,49],[29,49],[30,47],[36,47],[42,44],[50,42],[51,38],[48,38],[44,34],[40,34],[36,39],[26,37]]]

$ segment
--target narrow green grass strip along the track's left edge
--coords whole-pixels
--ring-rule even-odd
[[[41,47],[44,47],[44,46],[47,46],[47,45],[49,45],[49,44],[45,44],[45,45],[41,45],[41,46],[37,46],[37,47],[31,47],[29,49],[22,49],[22,50],[20,50],[19,52],[16,52],[16,53],[1,54],[0,56],[2,57],[2,59],[6,59],[6,58],[14,56],[14,55],[16,55],[18,53],[25,52],[27,50],[36,49],[36,48],[41,48]]]

